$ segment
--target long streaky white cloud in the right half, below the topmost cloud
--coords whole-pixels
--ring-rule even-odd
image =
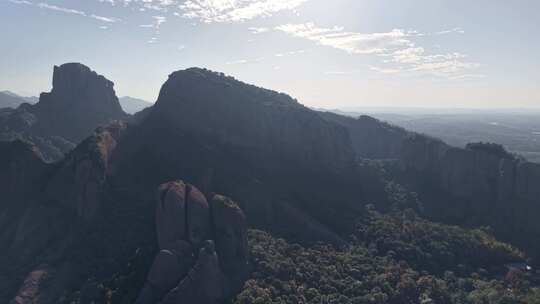
[[[371,66],[370,70],[383,74],[402,72],[429,74],[455,78],[480,66],[465,61],[459,52],[428,53],[417,46],[417,40],[426,34],[413,30],[394,29],[389,32],[359,33],[346,31],[343,27],[317,27],[313,22],[285,24],[275,28],[293,37],[307,39],[318,45],[332,47],[348,54],[375,55],[385,66]],[[435,35],[464,33],[461,28],[436,32]]]

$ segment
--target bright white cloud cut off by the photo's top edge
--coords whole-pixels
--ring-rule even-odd
[[[242,22],[294,10],[308,0],[188,0],[179,7],[182,16],[204,23]]]

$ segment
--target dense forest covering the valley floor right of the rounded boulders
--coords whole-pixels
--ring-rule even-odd
[[[369,211],[349,245],[301,246],[249,234],[254,272],[235,304],[540,303],[522,254],[483,230]]]

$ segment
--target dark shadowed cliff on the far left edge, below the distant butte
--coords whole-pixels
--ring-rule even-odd
[[[54,251],[58,239],[69,234],[69,219],[43,199],[42,189],[52,169],[34,145],[0,142],[1,302],[13,299],[20,287],[15,300],[27,303],[24,301],[35,295],[36,285],[44,278],[43,271],[34,269],[36,263],[45,252]],[[19,280],[27,274],[24,282]]]

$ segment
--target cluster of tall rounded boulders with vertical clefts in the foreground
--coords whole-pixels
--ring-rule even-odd
[[[182,181],[161,185],[156,205],[159,253],[138,304],[221,303],[248,272],[247,228],[229,198],[210,203]]]

